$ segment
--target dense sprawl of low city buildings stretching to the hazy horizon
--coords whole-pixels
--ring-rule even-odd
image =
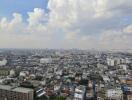
[[[132,100],[132,53],[1,49],[0,100]]]

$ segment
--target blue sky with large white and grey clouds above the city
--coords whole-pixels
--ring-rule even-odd
[[[0,0],[0,48],[132,49],[132,0]]]

